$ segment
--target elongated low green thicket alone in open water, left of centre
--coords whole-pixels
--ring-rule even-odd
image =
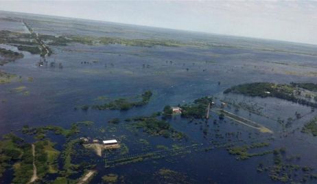
[[[106,104],[102,105],[93,105],[91,108],[98,109],[98,110],[121,110],[126,111],[130,108],[133,108],[134,106],[144,106],[150,102],[150,99],[152,97],[152,91],[145,91],[141,95],[141,101],[137,102],[130,102],[126,98],[119,98],[117,100],[114,100],[112,102],[108,102]]]

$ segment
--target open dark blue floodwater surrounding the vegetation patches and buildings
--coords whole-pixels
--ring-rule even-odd
[[[8,16],[8,13],[3,12],[0,15]],[[19,17],[19,14],[14,16]],[[157,145],[172,147],[173,144],[185,146],[202,143],[201,147],[206,148],[211,141],[227,143],[238,141],[237,137],[228,140],[228,137],[216,135],[240,132],[242,135],[239,140],[243,141],[238,142],[237,145],[244,144],[244,141],[268,141],[268,138],[273,137],[273,140],[270,139],[269,150],[285,147],[287,154],[301,155],[298,164],[317,169],[317,159],[314,154],[317,152],[316,139],[298,130],[310,118],[317,115],[316,112],[310,113],[311,108],[274,98],[261,99],[222,94],[224,89],[246,82],[316,82],[317,56],[314,55],[317,53],[316,46],[96,21],[31,15],[26,15],[24,18],[34,32],[39,34],[176,39],[184,42],[207,42],[215,46],[129,47],[79,43],[49,46],[54,54],[46,58],[48,63],[53,61],[62,63],[62,69],[49,65],[38,67],[40,56],[23,51],[24,58],[0,67],[1,70],[15,73],[22,78],[21,82],[0,85],[0,100],[5,100],[0,103],[0,135],[18,130],[26,124],[69,128],[73,122],[92,121],[93,128],[82,130],[82,135],[120,139],[121,143],[128,146],[128,154],[142,154],[157,150]],[[8,23],[8,21],[0,21],[0,29],[14,32],[24,30],[23,23]],[[220,44],[226,47],[220,47]],[[231,47],[227,47],[228,45]],[[0,47],[17,51],[12,45],[1,44]],[[273,49],[275,51],[272,51]],[[143,67],[143,64],[146,67]],[[27,80],[29,77],[33,78],[32,82]],[[12,92],[11,89],[16,87],[26,87],[30,94]],[[109,99],[134,97],[146,90],[154,93],[150,103],[129,111],[74,110],[75,106],[100,103],[96,100],[99,96],[106,96]],[[226,118],[220,121],[215,113],[211,113],[208,126],[199,120],[190,123],[188,119],[180,117],[169,119],[174,129],[187,135],[187,140],[152,137],[142,131],[135,134],[125,126],[124,119],[128,117],[151,115],[156,111],[162,111],[165,105],[185,104],[206,95],[213,95],[221,100],[257,104],[261,107],[259,111],[265,116],[253,113],[251,115],[244,109],[240,109],[237,115],[252,119],[270,128],[274,133],[272,135],[259,133],[255,129]],[[234,108],[226,107],[226,111],[234,112]],[[296,111],[307,115],[287,128],[287,137],[281,136],[282,128],[276,119],[294,117]],[[108,124],[108,120],[115,117],[119,117],[121,122],[115,126],[116,131],[108,132],[108,128],[114,126]],[[217,119],[218,123],[213,124],[213,119]],[[106,132],[101,131],[102,128]],[[203,128],[208,129],[207,135],[202,133]],[[51,137],[54,139],[54,135]],[[139,139],[147,140],[150,146],[138,143]],[[56,139],[56,141],[62,143],[64,139]],[[61,150],[62,146],[56,148]],[[107,159],[107,153],[103,157]],[[95,161],[97,164],[98,174],[91,183],[101,183],[102,176],[109,173],[123,176],[126,183],[157,183],[155,173],[162,168],[185,174],[190,183],[274,182],[270,180],[268,174],[259,173],[256,169],[259,162],[272,163],[272,154],[237,161],[225,148],[213,148],[208,152],[192,150],[189,154],[150,159],[115,168],[105,168],[104,162],[100,162],[93,152],[85,159]],[[5,176],[1,179],[2,183],[6,183],[11,177]]]

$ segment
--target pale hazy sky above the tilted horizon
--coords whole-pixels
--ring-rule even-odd
[[[317,1],[4,1],[0,10],[317,45]]]

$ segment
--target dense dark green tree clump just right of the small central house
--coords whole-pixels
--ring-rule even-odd
[[[213,102],[213,97],[201,97],[193,101],[193,104],[185,104],[182,108],[182,117],[204,119],[207,115],[209,103]]]

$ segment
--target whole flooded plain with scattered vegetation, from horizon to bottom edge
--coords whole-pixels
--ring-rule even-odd
[[[0,31],[0,48],[23,54],[0,66],[15,75],[0,83],[0,135],[38,149],[55,143],[44,143],[56,157],[47,156],[48,173],[37,169],[40,183],[317,182],[317,138],[301,131],[317,115],[312,106],[223,93],[250,82],[316,83],[316,45],[8,12],[0,12]],[[19,45],[40,47],[44,56]],[[209,119],[162,113],[205,96],[214,102]],[[120,108],[93,108],[115,103]],[[120,146],[99,157],[80,137]],[[0,183],[20,183],[23,163],[23,156],[1,163]]]

